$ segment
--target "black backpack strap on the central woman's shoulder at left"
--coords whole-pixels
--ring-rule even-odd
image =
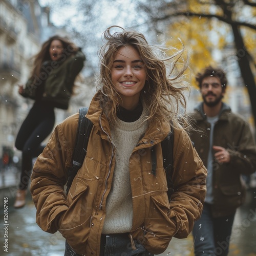
[[[67,194],[71,187],[73,179],[75,178],[78,170],[82,166],[83,160],[86,157],[87,153],[88,141],[93,127],[93,123],[91,122],[91,120],[89,120],[86,117],[87,112],[87,107],[79,109],[76,142],[74,152],[72,155],[72,167],[69,169],[68,172],[68,181],[66,189]]]

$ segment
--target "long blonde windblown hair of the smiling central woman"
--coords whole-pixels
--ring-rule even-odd
[[[121,32],[112,34],[112,28],[120,28]],[[106,29],[103,39],[106,42],[99,51],[100,74],[96,81],[96,89],[101,91],[99,100],[110,122],[115,120],[119,105],[119,96],[111,79],[113,61],[121,47],[132,46],[144,62],[148,77],[140,95],[149,111],[148,119],[158,116],[158,122],[164,119],[173,120],[177,124],[176,116],[180,105],[186,109],[183,91],[188,89],[186,82],[180,79],[187,68],[187,59],[183,60],[182,64],[178,62],[184,48],[181,51],[177,50],[173,56],[166,57],[169,49],[149,45],[143,34],[118,26]],[[166,63],[170,65],[168,74]],[[177,66],[182,66],[181,70],[177,69]]]

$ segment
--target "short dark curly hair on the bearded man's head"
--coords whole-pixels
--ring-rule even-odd
[[[213,68],[211,66],[206,67],[205,69],[203,69],[201,73],[198,73],[196,75],[196,81],[200,89],[202,88],[203,79],[209,76],[214,76],[219,78],[222,85],[222,91],[223,92],[226,91],[227,78],[226,78],[225,72],[220,68]]]

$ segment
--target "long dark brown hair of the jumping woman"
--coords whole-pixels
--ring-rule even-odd
[[[63,46],[63,54],[64,54],[63,56],[66,56],[66,58],[63,58],[65,60],[72,53],[75,53],[78,50],[75,44],[73,42],[70,42],[66,37],[61,37],[59,35],[54,35],[50,37],[47,41],[44,42],[44,44],[42,44],[41,50],[34,56],[34,67],[31,72],[30,78],[33,79],[35,76],[39,77],[42,63],[44,63],[45,61],[51,60],[49,50],[53,40],[61,41]]]

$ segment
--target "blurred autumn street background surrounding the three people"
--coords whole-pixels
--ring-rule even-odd
[[[5,239],[3,207],[6,197],[9,224],[8,252],[4,251],[3,246],[0,255],[63,255],[65,247],[65,241],[59,233],[48,234],[36,225],[35,207],[29,195],[26,207],[18,210],[12,207],[21,163],[21,152],[14,147],[14,142],[33,104],[32,100],[18,94],[18,84],[26,83],[32,68],[31,57],[39,51],[42,42],[55,34],[68,36],[87,56],[81,81],[76,84],[77,92],[71,98],[69,109],[55,110],[56,125],[76,113],[81,106],[89,105],[95,93],[101,34],[107,27],[118,25],[134,26],[154,44],[164,41],[178,50],[184,44],[189,52],[189,72],[186,77],[191,85],[191,92],[187,96],[188,111],[201,101],[200,92],[195,87],[195,74],[209,64],[223,68],[229,81],[224,101],[234,113],[242,115],[249,122],[255,134],[254,3],[239,0],[0,0],[2,245]],[[251,181],[246,203],[238,209],[234,221],[229,256],[256,255],[255,175]],[[173,239],[161,255],[193,256],[193,237]]]

